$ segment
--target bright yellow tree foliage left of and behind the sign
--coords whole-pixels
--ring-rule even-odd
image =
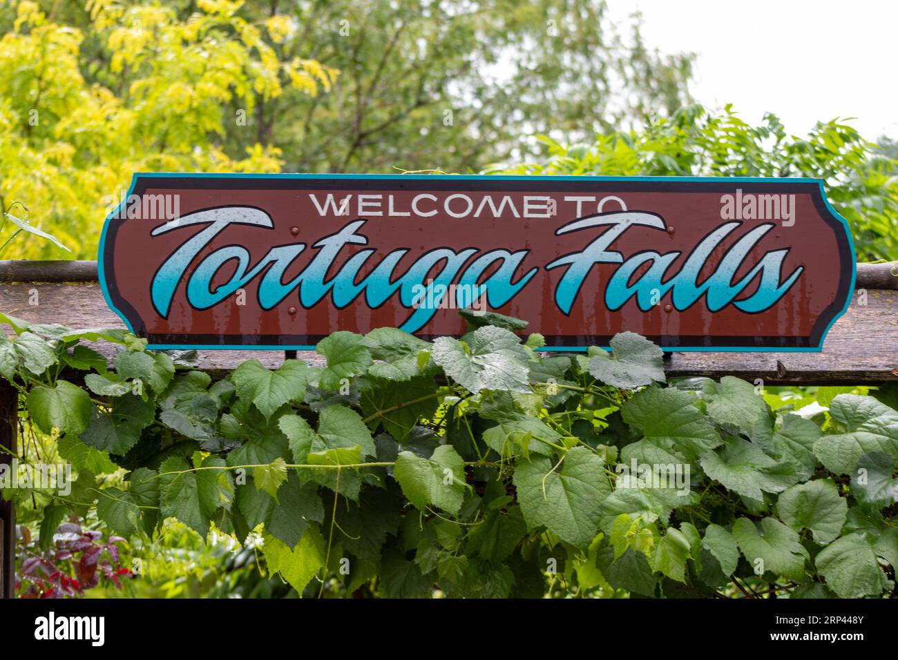
[[[161,4],[108,0],[51,3],[48,11],[34,2],[5,6],[2,210],[22,205],[76,257],[91,259],[109,196],[133,172],[277,172],[272,145],[248,141],[225,152],[227,104],[251,109],[285,87],[313,95],[336,74],[314,60],[277,57],[265,37],[279,33],[278,22],[248,22],[234,13],[239,4],[200,2],[189,19]],[[17,247],[17,257],[60,254],[48,242]]]

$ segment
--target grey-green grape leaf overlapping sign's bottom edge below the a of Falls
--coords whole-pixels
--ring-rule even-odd
[[[609,343],[611,356],[602,351],[589,360],[589,373],[595,379],[621,390],[665,382],[665,352],[651,341],[635,332],[619,332]]]

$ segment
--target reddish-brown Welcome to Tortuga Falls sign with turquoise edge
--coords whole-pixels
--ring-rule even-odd
[[[549,348],[819,350],[854,286],[819,180],[136,174],[103,227],[110,307],[151,348],[311,348],[335,330]]]

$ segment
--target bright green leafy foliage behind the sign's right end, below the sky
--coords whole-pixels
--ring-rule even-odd
[[[838,120],[792,136],[773,114],[753,127],[730,106],[714,113],[690,105],[645,130],[610,132],[580,145],[541,139],[545,159],[485,173],[823,179],[827,198],[851,225],[858,260],[898,259],[898,163],[887,143],[876,150]]]

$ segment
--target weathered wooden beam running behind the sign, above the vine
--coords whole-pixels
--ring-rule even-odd
[[[857,288],[866,289],[867,304],[860,304],[862,296],[853,296],[849,311],[832,326],[820,353],[672,353],[665,369],[672,377],[735,375],[771,385],[896,381],[898,264],[859,264]],[[35,292],[37,305],[31,304]],[[0,261],[0,311],[72,328],[123,327],[103,299],[93,261]],[[107,355],[114,350],[107,345],[98,348]],[[284,351],[204,350],[199,351],[196,368],[221,375],[252,357],[275,367],[284,361]],[[312,351],[299,351],[298,357],[323,364]]]

